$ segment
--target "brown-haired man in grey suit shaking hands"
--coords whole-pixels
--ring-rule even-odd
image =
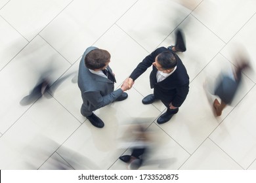
[[[95,127],[104,127],[104,122],[93,111],[114,101],[123,101],[128,95],[128,82],[114,90],[116,78],[109,67],[110,53],[96,47],[89,47],[81,58],[78,71],[78,86],[81,90],[83,105],[81,114]]]

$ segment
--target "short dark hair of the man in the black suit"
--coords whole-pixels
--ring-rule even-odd
[[[173,69],[177,65],[177,57],[173,52],[161,52],[157,59],[163,69]]]

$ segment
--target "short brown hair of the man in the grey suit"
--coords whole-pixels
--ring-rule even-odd
[[[91,50],[91,52],[85,56],[85,66],[92,70],[105,67],[109,61],[110,53],[102,49]]]

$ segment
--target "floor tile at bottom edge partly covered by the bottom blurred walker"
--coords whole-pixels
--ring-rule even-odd
[[[150,125],[148,133],[151,136],[150,147],[140,170],[147,169],[179,169],[182,163],[190,156],[177,142],[173,141],[156,124]],[[135,142],[136,144],[136,142]],[[130,155],[131,150],[127,150],[125,155]],[[120,155],[121,156],[121,155]],[[110,169],[127,169],[127,163],[117,159]]]

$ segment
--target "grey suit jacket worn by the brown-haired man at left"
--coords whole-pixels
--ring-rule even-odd
[[[83,99],[81,107],[83,116],[89,116],[94,110],[114,102],[123,93],[121,88],[114,91],[114,82],[91,73],[85,66],[85,56],[94,49],[98,48],[91,46],[85,50],[78,71],[77,83]],[[107,69],[112,72],[109,66]]]

